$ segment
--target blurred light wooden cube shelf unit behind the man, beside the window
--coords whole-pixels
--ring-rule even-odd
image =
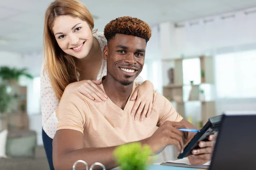
[[[191,76],[189,75],[191,72],[184,67],[189,65],[189,59],[194,58],[198,58],[196,59],[197,66],[191,66],[191,69],[197,69],[197,71]],[[194,63],[195,59],[192,60],[191,63]],[[199,65],[198,62],[200,62]],[[198,121],[204,125],[210,117],[216,114],[213,63],[213,57],[210,56],[162,59],[163,80],[166,84],[163,86],[163,96],[172,102],[181,116],[186,119],[187,116],[192,116],[196,126]],[[195,84],[190,84],[188,77]]]

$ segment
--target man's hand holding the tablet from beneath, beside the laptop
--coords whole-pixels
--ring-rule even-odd
[[[188,157],[191,164],[205,164],[212,159],[212,152],[216,140],[216,135],[209,135],[209,141],[199,142],[200,149],[192,150],[192,155]]]

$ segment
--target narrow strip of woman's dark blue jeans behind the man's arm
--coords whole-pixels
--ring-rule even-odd
[[[44,143],[44,150],[47,156],[48,164],[50,167],[50,170],[54,170],[53,167],[53,161],[52,161],[52,138],[50,138],[42,128],[42,137],[43,137],[43,143]]]

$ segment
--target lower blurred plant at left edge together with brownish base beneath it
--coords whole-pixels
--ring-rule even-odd
[[[1,83],[0,84],[0,122],[1,122],[1,129],[7,129],[8,127],[8,120],[7,114],[9,108],[9,102],[11,101],[11,97],[7,93],[7,85]]]

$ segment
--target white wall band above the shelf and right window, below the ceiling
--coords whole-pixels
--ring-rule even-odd
[[[186,21],[178,23],[177,26],[180,27],[176,28],[173,28],[174,24],[171,23],[172,26],[168,26],[171,33],[166,36],[164,35],[168,23],[160,24],[160,34],[163,35],[161,45],[166,49],[169,47],[169,51],[172,51],[172,54],[163,53],[162,57],[186,57],[255,48],[256,13],[244,13],[250,10],[252,9]],[[172,38],[168,37],[169,35]]]

